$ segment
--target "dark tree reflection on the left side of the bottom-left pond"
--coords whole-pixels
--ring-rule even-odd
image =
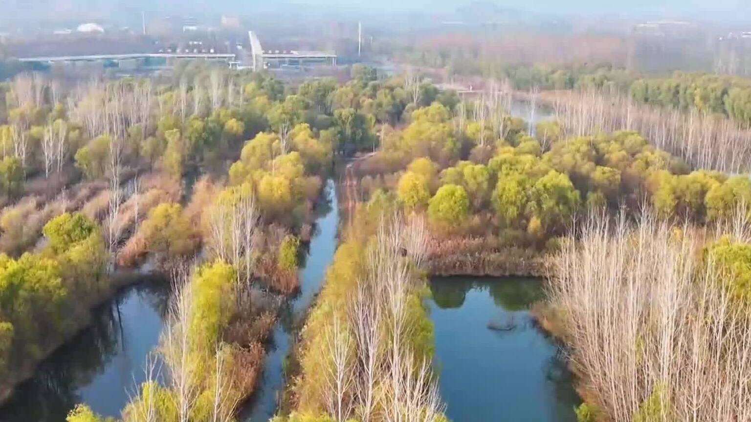
[[[68,411],[82,400],[78,389],[91,384],[119,352],[122,336],[119,306],[134,293],[148,297],[149,305],[158,312],[167,306],[169,289],[166,284],[142,283],[95,310],[89,327],[56,350],[39,366],[33,378],[17,388],[14,396],[0,408],[0,420],[65,420]]]

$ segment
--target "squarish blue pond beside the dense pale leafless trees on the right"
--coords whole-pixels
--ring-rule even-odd
[[[541,279],[430,281],[434,361],[449,419],[575,422],[580,399],[560,349],[529,315],[541,288]]]

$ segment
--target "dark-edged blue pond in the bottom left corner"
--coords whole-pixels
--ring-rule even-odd
[[[106,416],[120,411],[146,378],[169,298],[148,277],[95,310],[92,324],[45,360],[0,408],[4,422],[60,422],[78,403]]]

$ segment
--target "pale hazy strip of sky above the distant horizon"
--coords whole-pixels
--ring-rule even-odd
[[[623,18],[686,18],[697,20],[743,20],[751,17],[748,0],[3,0],[0,8],[6,20],[74,19],[91,17],[116,19],[119,11],[147,11],[170,14],[315,14],[353,16],[378,14],[453,14],[467,7],[495,8],[509,14],[587,15],[608,14]],[[2,17],[0,17],[2,19]]]

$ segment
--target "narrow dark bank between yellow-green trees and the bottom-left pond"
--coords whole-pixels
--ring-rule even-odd
[[[92,324],[92,318],[96,309],[104,306],[105,303],[112,300],[113,297],[116,297],[116,295],[119,294],[120,291],[143,282],[146,279],[163,279],[161,273],[140,273],[137,270],[119,270],[108,277],[111,282],[107,286],[107,288],[101,291],[97,295],[97,297],[93,298],[91,302],[86,303],[83,306],[87,309],[87,312],[85,314],[86,318],[80,318],[76,321],[72,321],[73,325],[71,329],[67,333],[62,334],[59,339],[56,339],[56,341],[53,342],[50,347],[42,351],[42,357],[40,359],[29,361],[22,368],[18,369],[15,374],[11,374],[6,383],[0,385],[0,406],[4,405],[13,397],[17,387],[19,387],[24,382],[29,381],[29,379],[31,379],[35,375],[38,367],[41,366],[41,364],[44,363],[45,360],[49,359],[53,354],[55,354],[56,351],[59,350],[59,348],[62,348],[64,345],[70,342],[71,339],[74,339],[78,334],[80,334],[83,330],[86,330],[86,328]]]

